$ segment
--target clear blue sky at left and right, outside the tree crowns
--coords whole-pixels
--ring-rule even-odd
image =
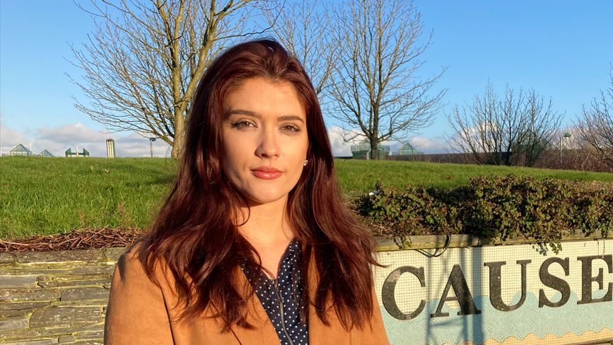
[[[512,88],[535,88],[553,98],[554,109],[566,112],[564,124],[571,124],[581,105],[607,87],[613,62],[613,1],[415,0],[415,5],[426,31],[434,30],[421,74],[428,76],[440,66],[449,66],[435,86],[449,88],[445,96],[449,105],[414,141],[426,153],[440,152],[443,132],[452,134],[443,112],[483,93],[488,78],[498,93],[508,83]],[[42,151],[41,145],[64,137],[56,149],[61,153],[65,148],[58,151],[60,146],[83,140],[71,141],[72,131],[80,131],[81,137],[83,131],[103,131],[101,124],[74,108],[71,96],[85,97],[64,75],[80,74],[66,59],[72,59],[70,44],[79,47],[91,30],[91,17],[70,0],[0,2],[3,153],[16,141],[37,142],[40,149],[33,151]],[[129,133],[116,137],[118,151],[119,139],[132,143],[124,156],[148,154],[146,139],[141,142]],[[346,149],[336,145],[340,144],[335,144],[337,151]],[[159,145],[155,154],[163,156],[165,150]]]

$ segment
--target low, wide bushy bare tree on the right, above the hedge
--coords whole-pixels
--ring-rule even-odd
[[[453,151],[472,154],[479,164],[532,167],[554,144],[564,113],[551,109],[552,101],[535,90],[518,93],[508,86],[498,98],[488,81],[485,94],[472,105],[455,105],[446,115],[455,134],[448,139]]]

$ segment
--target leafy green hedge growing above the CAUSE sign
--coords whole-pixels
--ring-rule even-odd
[[[613,188],[605,182],[473,177],[452,189],[396,187],[356,202],[356,211],[381,235],[474,234],[524,236],[549,242],[557,252],[564,231],[590,235],[613,230]]]

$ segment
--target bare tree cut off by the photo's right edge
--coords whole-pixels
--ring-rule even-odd
[[[611,86],[600,90],[600,97],[594,98],[591,107],[583,105],[576,127],[585,141],[597,151],[598,156],[613,168],[613,64],[609,69]]]

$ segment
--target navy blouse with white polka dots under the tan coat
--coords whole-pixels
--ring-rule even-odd
[[[308,325],[300,324],[297,303],[304,291],[300,283],[300,244],[298,240],[294,239],[288,245],[281,259],[277,279],[269,279],[264,273],[255,277],[255,274],[247,271],[245,267],[241,268],[255,288],[255,293],[266,310],[281,345],[308,344]]]

